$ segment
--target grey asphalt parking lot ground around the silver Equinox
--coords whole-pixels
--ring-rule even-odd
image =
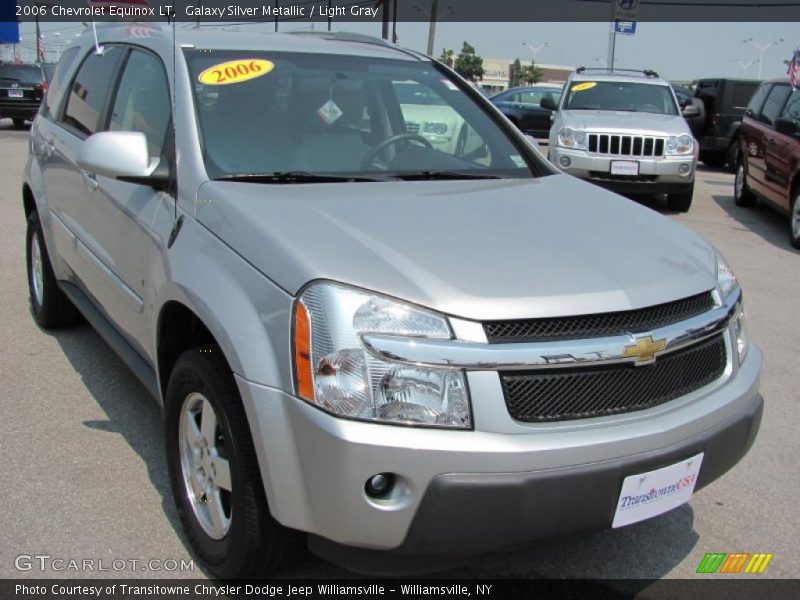
[[[169,490],[160,411],[88,326],[40,331],[28,311],[20,199],[27,131],[0,121],[0,456],[6,472],[0,577],[197,577],[194,571],[20,572],[19,555],[191,558]],[[689,505],[624,529],[487,556],[456,577],[692,577],[707,552],[769,552],[762,577],[800,572],[800,252],[783,216],[733,202],[733,176],[698,174],[694,205],[666,213],[713,241],[743,287],[751,338],[764,351],[766,412],[748,456]],[[308,557],[293,578],[348,577]],[[707,576],[706,576],[707,577]]]

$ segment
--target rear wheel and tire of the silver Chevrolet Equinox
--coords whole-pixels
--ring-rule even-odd
[[[78,311],[56,282],[37,212],[28,217],[28,233],[25,239],[28,293],[33,320],[42,329],[72,325],[80,321]]]

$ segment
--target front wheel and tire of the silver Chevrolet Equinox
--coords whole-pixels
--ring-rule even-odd
[[[259,578],[286,566],[302,536],[270,515],[244,407],[218,347],[178,358],[165,416],[178,514],[209,570],[224,579]]]

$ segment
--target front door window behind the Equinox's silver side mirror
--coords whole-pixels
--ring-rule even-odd
[[[111,111],[111,131],[140,131],[151,157],[160,157],[172,113],[167,76],[161,61],[134,50],[125,66]]]

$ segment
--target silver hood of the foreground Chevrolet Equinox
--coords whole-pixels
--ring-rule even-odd
[[[200,223],[291,294],[330,279],[487,320],[628,310],[716,285],[701,237],[568,175],[212,181],[197,207]]]

